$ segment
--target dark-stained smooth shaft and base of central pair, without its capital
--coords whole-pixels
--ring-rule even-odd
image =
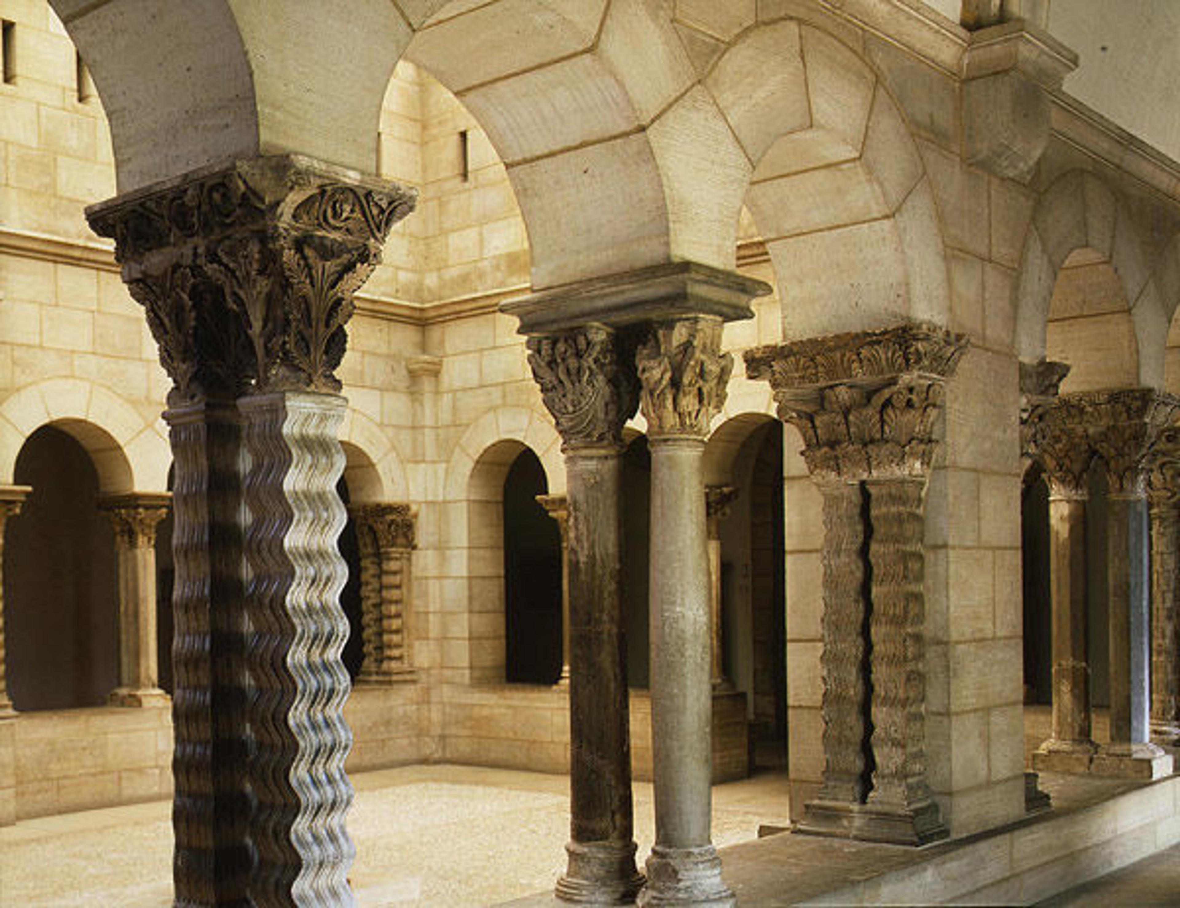
[[[622,459],[615,446],[568,448],[570,843],[557,895],[628,903],[635,867],[622,597]]]

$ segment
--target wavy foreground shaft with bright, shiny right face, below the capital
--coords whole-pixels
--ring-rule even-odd
[[[250,455],[249,778],[257,850],[250,899],[268,907],[350,906],[355,850],[345,815],[353,790],[345,757],[352,735],[340,660],[348,568],[336,548],[346,519],[336,494],[345,401],[288,392],[244,397],[238,407]]]

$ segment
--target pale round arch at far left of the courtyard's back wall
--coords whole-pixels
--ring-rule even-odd
[[[0,403],[0,479],[12,482],[17,455],[40,426],[72,435],[98,471],[99,492],[163,492],[171,454],[159,421],[149,423],[130,403],[80,379],[50,379]]]

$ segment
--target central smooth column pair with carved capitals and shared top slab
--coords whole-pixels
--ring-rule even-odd
[[[722,323],[748,317],[748,300],[762,291],[759,282],[683,263],[505,307],[529,335],[529,362],[564,442],[571,836],[557,895],[566,901],[734,903],[710,841],[702,455],[732,370],[720,350]],[[637,404],[651,449],[656,842],[645,881],[635,864],[622,613],[622,432]]]

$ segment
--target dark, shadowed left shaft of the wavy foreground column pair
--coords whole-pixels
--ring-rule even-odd
[[[244,904],[253,868],[241,425],[232,402],[164,414],[173,458],[172,877],[177,908]]]

